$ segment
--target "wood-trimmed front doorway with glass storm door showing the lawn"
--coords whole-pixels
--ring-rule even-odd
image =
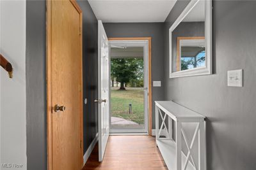
[[[151,38],[109,38],[111,134],[151,134]]]

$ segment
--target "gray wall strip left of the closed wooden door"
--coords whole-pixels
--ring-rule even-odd
[[[47,169],[45,1],[26,1],[28,169]]]

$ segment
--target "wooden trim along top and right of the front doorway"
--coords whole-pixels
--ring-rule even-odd
[[[148,41],[148,135],[152,136],[151,37],[108,38],[109,41]]]

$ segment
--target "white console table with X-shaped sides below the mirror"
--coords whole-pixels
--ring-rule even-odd
[[[173,101],[156,101],[156,145],[170,170],[205,170],[205,117],[180,106]],[[159,115],[161,126],[159,127]],[[168,120],[166,120],[168,118]],[[173,121],[175,122],[175,140],[173,139]],[[189,143],[182,125],[196,124],[193,138]],[[168,125],[168,126],[167,126]],[[198,140],[196,140],[198,138]],[[192,152],[198,141],[198,152]],[[186,155],[182,142],[186,144]],[[196,158],[197,157],[197,158]],[[196,158],[196,159],[195,159]],[[194,161],[198,160],[198,161]]]

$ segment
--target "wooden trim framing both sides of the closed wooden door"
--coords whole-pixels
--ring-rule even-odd
[[[53,169],[52,157],[52,1],[46,1],[46,114],[47,114],[47,169]],[[81,87],[83,87],[83,13],[75,0],[69,0],[70,3],[80,13],[80,43],[81,43]],[[81,166],[83,166],[83,88],[81,88],[81,106],[80,106],[80,120],[81,120]]]

